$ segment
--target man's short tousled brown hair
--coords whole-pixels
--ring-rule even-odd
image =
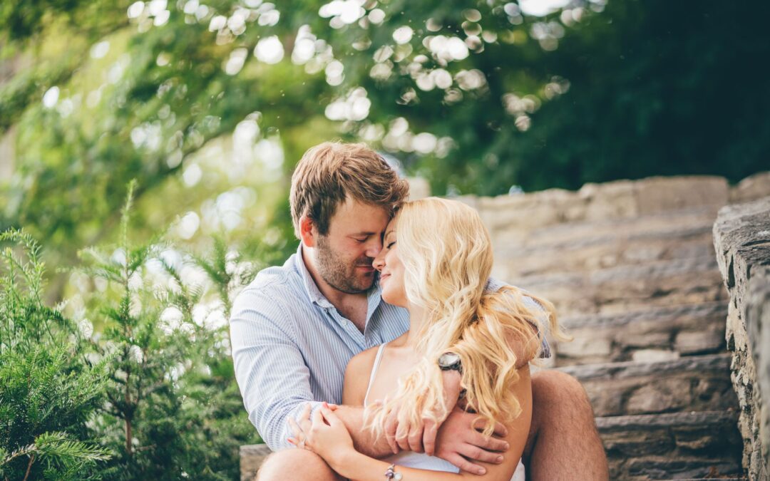
[[[337,206],[348,197],[392,215],[408,194],[407,181],[366,144],[323,142],[305,152],[291,178],[294,233],[300,237],[300,217],[307,215],[321,235],[328,234]]]

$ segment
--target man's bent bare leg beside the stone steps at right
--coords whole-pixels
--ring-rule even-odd
[[[609,479],[594,409],[574,377],[554,370],[532,375],[532,424],[523,459],[532,481]]]

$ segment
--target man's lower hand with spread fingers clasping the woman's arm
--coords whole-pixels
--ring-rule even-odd
[[[473,462],[500,464],[503,462],[502,453],[510,446],[498,439],[507,435],[503,425],[498,423],[494,435],[487,437],[473,426],[477,417],[477,414],[455,408],[438,430],[435,456],[446,459],[463,471],[482,475],[487,470]]]

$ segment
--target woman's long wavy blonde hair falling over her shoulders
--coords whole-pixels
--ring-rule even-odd
[[[554,308],[528,293],[534,302],[527,306],[512,286],[485,291],[492,245],[480,216],[469,206],[420,199],[403,204],[394,222],[407,299],[427,313],[415,339],[423,356],[401,377],[392,396],[367,406],[367,427],[380,435],[395,406],[399,426],[444,419],[448,409],[437,359],[450,351],[462,362],[467,408],[479,415],[489,436],[496,422],[510,422],[521,413],[511,389],[519,379],[518,357],[529,361],[538,356],[548,328],[564,337]]]

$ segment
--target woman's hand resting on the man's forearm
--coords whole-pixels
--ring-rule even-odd
[[[340,418],[334,414],[334,409],[336,406],[323,403],[311,419],[308,406],[300,423],[290,419],[295,437],[289,438],[289,442],[294,446],[313,451],[332,467],[335,466],[336,459],[355,452],[353,438]]]

